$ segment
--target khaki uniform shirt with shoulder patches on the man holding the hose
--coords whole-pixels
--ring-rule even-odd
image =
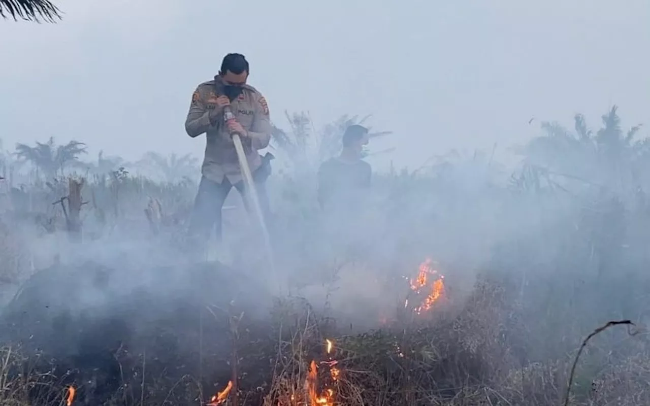
[[[230,108],[248,133],[248,137],[242,137],[242,144],[248,166],[255,171],[262,163],[257,151],[268,146],[272,127],[263,95],[248,84],[242,88],[239,97],[231,101]],[[242,180],[242,171],[235,144],[224,123],[223,109],[216,106],[215,91],[214,81],[198,85],[192,95],[185,131],[192,138],[205,133],[205,159],[201,167],[203,176],[216,183],[222,183],[225,177],[235,184]]]

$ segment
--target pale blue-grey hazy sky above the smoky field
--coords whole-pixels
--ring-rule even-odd
[[[54,0],[57,23],[0,21],[0,138],[55,136],[136,159],[196,153],[183,125],[196,84],[244,53],[272,120],[373,114],[419,166],[452,147],[508,146],[528,125],[612,104],[650,127],[650,1]],[[649,135],[647,128],[643,135]]]

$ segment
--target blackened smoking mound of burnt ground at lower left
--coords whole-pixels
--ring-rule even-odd
[[[270,302],[254,277],[218,262],[151,269],[58,265],[21,286],[0,314],[0,338],[25,354],[40,353],[36,369],[53,370],[57,385],[79,388],[77,405],[139,399],[143,369],[146,386],[160,385],[163,397],[192,377],[205,392],[197,396],[205,398],[230,377],[229,317],[242,311],[238,346],[247,355],[240,361],[247,374],[240,387],[265,386],[270,361],[263,354],[273,349],[259,343],[272,342]]]

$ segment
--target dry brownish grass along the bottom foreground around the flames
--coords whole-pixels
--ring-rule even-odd
[[[278,300],[272,311],[275,343],[262,346],[266,352],[255,364],[268,380],[250,387],[246,375],[255,371],[248,362],[249,369],[238,372],[240,379],[243,377],[239,405],[309,405],[305,378],[313,360],[320,366],[318,392],[328,384],[336,405],[562,404],[573,356],[522,361],[511,342],[516,325],[508,331],[504,327],[517,304],[512,303],[506,289],[493,283],[480,278],[473,294],[458,309],[434,309],[421,320],[395,322],[381,331],[361,335],[337,335],[333,320],[315,312],[304,299]],[[321,363],[329,357],[325,351],[327,338],[334,342],[331,357],[341,372],[337,381]],[[253,346],[259,349],[259,342],[247,340],[247,336],[239,337],[239,351],[250,351]],[[526,340],[534,345],[534,338]],[[586,361],[577,364],[568,404],[625,406],[650,402],[650,353],[638,340],[625,345],[631,347],[633,355],[613,346],[607,362],[601,362],[595,371],[592,361],[597,353],[585,347]],[[19,349],[5,348],[0,354],[0,404],[62,404],[66,372],[56,366],[47,372],[36,370],[30,365],[38,355],[25,357]],[[226,383],[222,381],[216,388],[201,387],[190,375],[172,382],[148,366],[144,356],[133,359],[125,349],[115,357],[130,357],[125,362],[132,368],[120,366],[122,385],[106,405],[198,405]],[[80,389],[79,396],[83,396]],[[85,404],[83,398],[79,402]]]

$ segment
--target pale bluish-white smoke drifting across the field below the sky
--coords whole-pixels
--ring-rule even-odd
[[[12,388],[40,404],[68,385],[80,404],[164,404],[207,400],[237,377],[227,401],[298,405],[291,396],[317,401],[303,393],[317,379],[330,405],[558,404],[580,340],[608,320],[642,326],[650,286],[643,132],[616,109],[600,127],[575,124],[543,125],[513,170],[477,151],[376,172],[354,215],[322,212],[317,166],[296,163],[307,149],[276,144],[273,267],[235,192],[224,247],[206,255],[185,233],[191,181],[88,179],[81,241],[53,204],[58,186],[16,181],[3,338],[52,359],[38,370],[56,379],[53,392]],[[572,399],[645,402],[645,341],[594,340]]]

